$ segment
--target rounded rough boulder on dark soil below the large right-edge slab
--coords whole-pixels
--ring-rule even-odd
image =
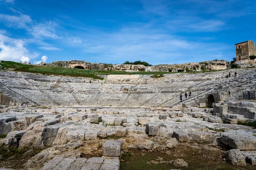
[[[245,158],[239,149],[228,150],[224,154],[224,158],[235,166],[246,166]]]

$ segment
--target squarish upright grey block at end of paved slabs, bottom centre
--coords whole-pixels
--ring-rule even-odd
[[[121,140],[107,140],[102,145],[102,155],[119,157],[121,156],[122,141]]]

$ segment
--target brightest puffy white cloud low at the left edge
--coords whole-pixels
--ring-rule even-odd
[[[20,58],[23,56],[28,58],[35,58],[38,56],[37,53],[31,54],[24,45],[24,40],[13,39],[0,34],[0,59],[20,62]]]

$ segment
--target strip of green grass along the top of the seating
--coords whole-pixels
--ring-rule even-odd
[[[134,72],[126,72],[126,71],[99,71],[99,70],[82,70],[78,68],[62,68],[62,67],[53,67],[53,66],[37,66],[37,65],[27,65],[21,64],[18,62],[12,61],[1,61],[0,62],[0,70],[11,70],[11,71],[21,71],[21,72],[29,72],[29,73],[39,73],[44,75],[63,75],[63,76],[71,76],[71,77],[88,77],[93,79],[103,79],[103,77],[97,75],[110,75],[110,74],[142,74],[142,75],[153,75],[152,78],[163,77],[163,74],[173,74],[173,73],[181,73],[181,72],[147,72],[147,71],[134,71]],[[202,72],[212,72],[208,70],[200,71]],[[191,71],[186,73],[199,73],[197,71]]]

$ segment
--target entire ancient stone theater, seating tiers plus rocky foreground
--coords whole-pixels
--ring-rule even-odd
[[[102,77],[0,71],[0,169],[256,169],[256,68]]]

